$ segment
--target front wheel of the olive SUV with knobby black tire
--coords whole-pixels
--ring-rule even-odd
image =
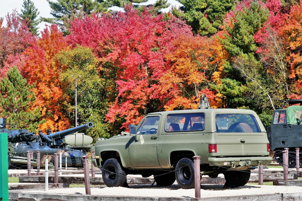
[[[108,187],[120,187],[127,180],[127,175],[117,159],[108,159],[104,162],[102,171],[103,181]]]

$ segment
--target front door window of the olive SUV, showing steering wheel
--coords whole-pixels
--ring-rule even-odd
[[[155,134],[157,133],[158,124],[159,116],[147,117],[137,129],[137,134]]]

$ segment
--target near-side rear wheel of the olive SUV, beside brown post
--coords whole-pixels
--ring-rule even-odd
[[[180,159],[175,167],[175,177],[178,185],[183,189],[194,188],[195,180],[193,161],[188,158]]]

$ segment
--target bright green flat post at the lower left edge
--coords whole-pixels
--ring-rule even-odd
[[[0,200],[8,201],[7,133],[0,133]]]

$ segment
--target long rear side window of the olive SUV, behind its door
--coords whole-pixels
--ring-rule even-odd
[[[168,115],[165,122],[166,132],[204,130],[204,113]]]

